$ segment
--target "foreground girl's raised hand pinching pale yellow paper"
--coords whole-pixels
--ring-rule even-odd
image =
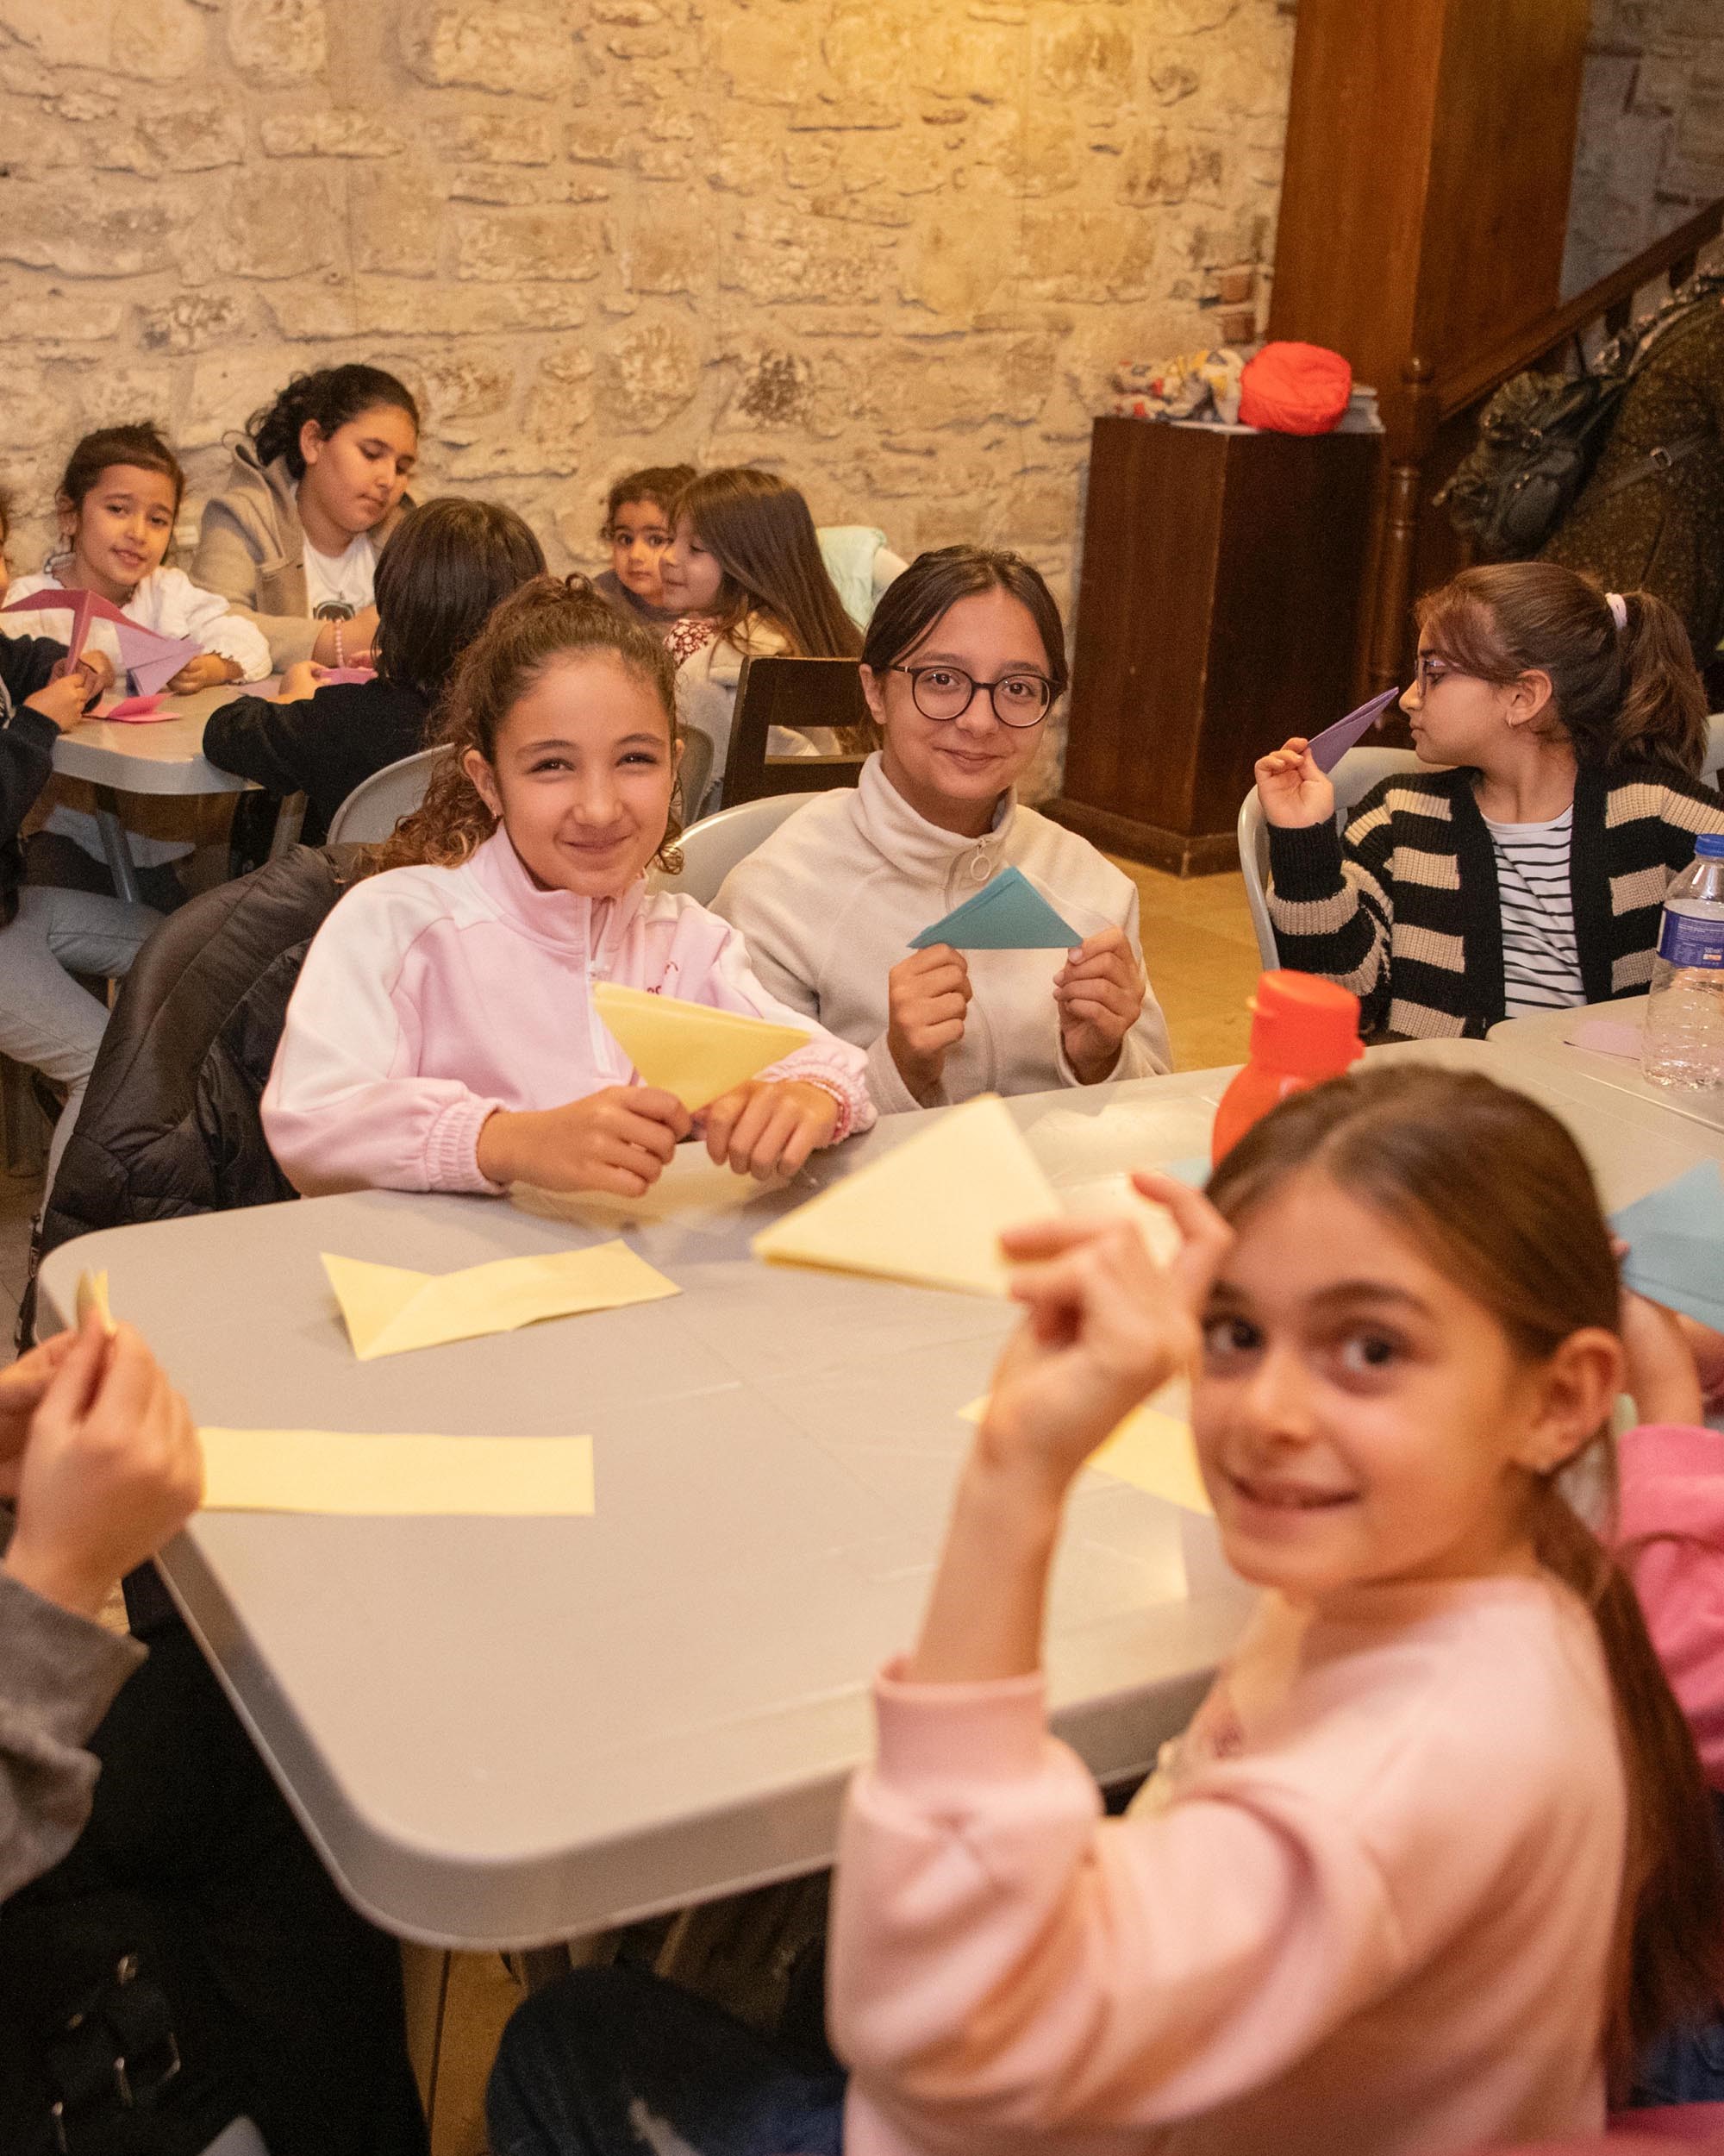
[[[1181,1253],[1162,1268],[1134,1220],[1043,1220],[1000,1238],[1028,1315],[993,1373],[978,1451],[1062,1492],[1142,1399],[1198,1356],[1198,1313],[1233,1229],[1198,1190],[1136,1175]]]

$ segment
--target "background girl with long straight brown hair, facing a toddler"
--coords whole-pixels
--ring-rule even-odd
[[[737,466],[692,481],[677,500],[659,578],[664,604],[687,617],[668,640],[677,660],[677,716],[713,744],[718,789],[741,662],[847,660],[860,653],[862,634],[825,573],[808,502],[771,472]],[[787,727],[774,727],[767,742],[778,757],[836,746]],[[718,798],[713,791],[713,804]]]

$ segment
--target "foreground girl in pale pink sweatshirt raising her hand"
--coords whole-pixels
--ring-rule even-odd
[[[1562,1470],[1608,1442],[1616,1261],[1586,1162],[1476,1074],[1293,1097],[1209,1192],[1004,1238],[1026,1307],[922,1634],[838,1839],[800,2065],[629,1971],[524,2005],[491,2145],[595,2156],[1412,2156],[1599,2132],[1715,1994],[1724,1876],[1633,1593]],[[1263,1589],[1123,1818],[1047,1729],[1067,1496],[1192,1371],[1222,1548]],[[1069,1671],[1067,1671],[1069,1675]]]

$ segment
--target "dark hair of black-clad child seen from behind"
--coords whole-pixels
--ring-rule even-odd
[[[530,526],[500,502],[409,509],[377,563],[377,673],[435,701],[491,608],[543,573]]]

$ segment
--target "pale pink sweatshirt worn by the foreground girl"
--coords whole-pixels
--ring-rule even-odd
[[[1039,1677],[886,1673],[838,1843],[845,2156],[1599,2132],[1627,1796],[1547,1578],[1269,1595],[1123,1820]]]

